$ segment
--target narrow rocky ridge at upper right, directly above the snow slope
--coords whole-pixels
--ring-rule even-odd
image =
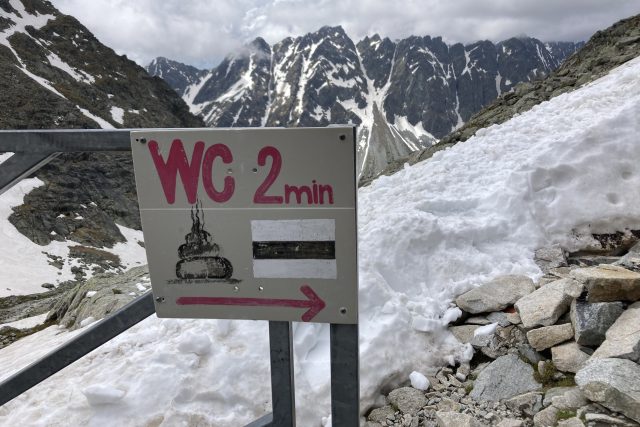
[[[436,151],[459,141],[466,141],[478,129],[503,123],[554,96],[577,89],[639,55],[640,15],[636,15],[596,32],[584,47],[546,78],[523,82],[516,85],[513,91],[502,93],[490,105],[474,114],[463,126],[442,138],[438,144],[397,159],[382,174],[390,175],[401,169],[405,162],[416,163],[431,157]],[[363,183],[367,182],[370,180]]]

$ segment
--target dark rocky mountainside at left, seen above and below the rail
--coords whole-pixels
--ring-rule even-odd
[[[0,129],[202,124],[164,80],[50,2],[0,1]],[[114,220],[140,228],[128,153],[64,155],[37,176],[45,185],[10,218],[34,242],[111,246],[124,240]]]

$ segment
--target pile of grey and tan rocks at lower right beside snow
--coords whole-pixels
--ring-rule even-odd
[[[501,276],[458,296],[449,331],[471,363],[415,372],[368,427],[640,425],[638,234],[541,248],[537,283]]]

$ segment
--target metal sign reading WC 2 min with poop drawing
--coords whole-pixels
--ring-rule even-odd
[[[357,323],[355,128],[131,144],[158,317]]]

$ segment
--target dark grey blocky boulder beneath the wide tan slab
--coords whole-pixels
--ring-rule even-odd
[[[624,311],[621,302],[588,303],[576,299],[571,303],[571,323],[575,340],[580,345],[599,346],[605,339],[607,329]]]

